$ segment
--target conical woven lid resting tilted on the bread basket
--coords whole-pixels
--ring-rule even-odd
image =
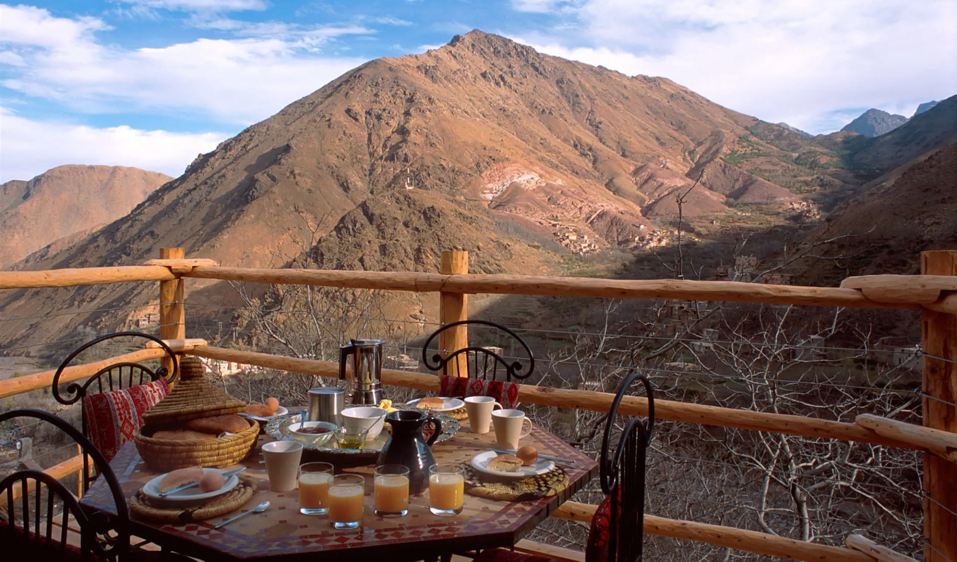
[[[143,415],[144,424],[188,422],[235,414],[246,407],[246,402],[206,381],[206,366],[199,357],[183,357],[179,366],[180,378],[175,388]]]

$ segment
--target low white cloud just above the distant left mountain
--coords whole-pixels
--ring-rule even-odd
[[[228,137],[26,119],[0,108],[0,183],[68,163],[135,166],[176,177]]]

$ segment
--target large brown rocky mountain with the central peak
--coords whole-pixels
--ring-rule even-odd
[[[753,220],[775,217],[803,194],[856,182],[841,162],[833,147],[667,78],[474,31],[345,73],[200,155],[127,216],[22,266],[137,264],[184,247],[231,266],[308,255],[323,268],[435,271],[439,250],[458,246],[473,252],[473,271],[561,272],[565,257],[638,251],[677,219],[680,197],[684,220],[752,215],[740,205],[768,206]],[[133,307],[153,292],[11,292],[0,306]],[[62,321],[37,330],[118,320]],[[14,324],[0,325],[0,341],[23,337]]]

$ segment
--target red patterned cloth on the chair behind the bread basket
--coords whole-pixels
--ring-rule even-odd
[[[123,443],[143,427],[143,415],[156,402],[166,398],[169,385],[160,378],[148,384],[137,384],[83,397],[86,436],[100,452],[111,460]]]

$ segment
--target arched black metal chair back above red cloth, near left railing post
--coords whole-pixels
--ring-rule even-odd
[[[63,371],[70,365],[70,362],[73,361],[74,358],[87,349],[97,345],[100,342],[106,341],[107,339],[126,336],[144,337],[145,339],[155,341],[157,344],[159,344],[160,347],[167,352],[167,356],[172,358],[172,374],[169,374],[169,371],[166,367],[160,367],[154,371],[140,363],[122,361],[103,367],[93,377],[87,378],[82,382],[70,382],[66,384],[61,393],[59,379],[63,375]],[[176,356],[173,354],[173,351],[169,349],[169,346],[167,346],[166,342],[164,342],[162,339],[156,337],[155,335],[141,334],[140,332],[117,332],[115,334],[100,335],[100,337],[84,343],[73,353],[71,353],[69,357],[64,359],[63,362],[60,363],[60,366],[56,369],[56,374],[54,375],[53,395],[56,401],[65,405],[74,404],[79,400],[80,412],[82,414],[83,435],[85,436],[87,435],[86,405],[84,404],[84,400],[82,400],[83,397],[89,396],[91,394],[110,392],[112,390],[121,390],[123,388],[129,388],[137,384],[153,382],[155,380],[159,380],[160,378],[166,378],[167,382],[172,382],[176,379],[178,373],[179,362],[176,360]],[[86,488],[84,487],[83,489],[85,490]]]

